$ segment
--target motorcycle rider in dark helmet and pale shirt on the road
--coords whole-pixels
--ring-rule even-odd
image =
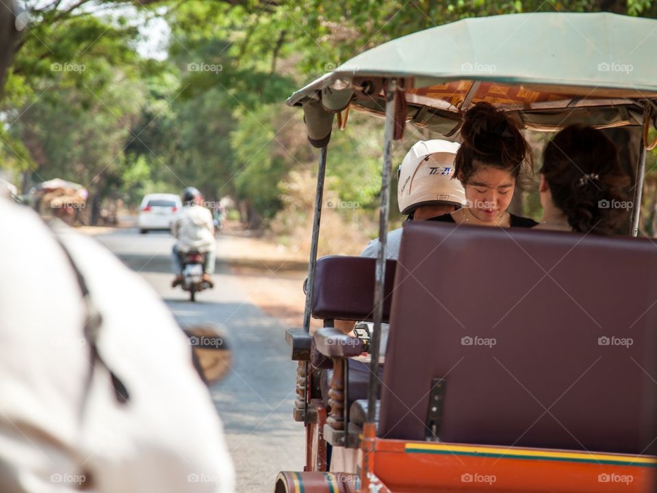
[[[177,238],[172,251],[172,266],[175,279],[171,286],[175,288],[183,283],[182,255],[190,251],[205,254],[203,264],[203,281],[214,287],[210,277],[214,273],[216,260],[214,240],[214,221],[212,213],[203,207],[203,195],[197,188],[183,190],[183,208],[171,222],[171,234]]]

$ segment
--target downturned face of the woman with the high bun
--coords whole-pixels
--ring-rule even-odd
[[[472,215],[484,223],[495,223],[502,218],[511,203],[515,178],[508,171],[480,166],[464,184],[464,188]]]

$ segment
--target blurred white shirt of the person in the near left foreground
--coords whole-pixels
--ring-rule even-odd
[[[21,235],[0,238],[0,491],[70,492],[84,477],[92,492],[233,492],[222,424],[155,292],[94,240],[65,234],[103,316],[99,350],[130,400],[116,402],[101,367],[85,395],[73,269],[25,207],[0,198],[0,230]]]

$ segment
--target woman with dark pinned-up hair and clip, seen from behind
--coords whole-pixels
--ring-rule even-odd
[[[556,134],[540,173],[543,218],[536,229],[610,235],[631,207],[616,146],[593,127],[571,125]]]

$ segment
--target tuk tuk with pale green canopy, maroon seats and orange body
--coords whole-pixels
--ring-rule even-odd
[[[305,314],[286,333],[306,463],[279,473],[276,493],[654,491],[657,245],[633,237],[657,144],[655,47],[645,18],[468,18],[365,51],[289,97],[320,159]],[[393,140],[405,125],[456,139],[479,101],[534,131],[641,129],[631,234],[412,222],[386,260]],[[385,118],[378,257],[318,260],[327,146],[351,110]],[[313,335],[311,316],[324,321]],[[373,322],[371,340],[335,320]],[[363,351],[365,382],[350,371]]]

